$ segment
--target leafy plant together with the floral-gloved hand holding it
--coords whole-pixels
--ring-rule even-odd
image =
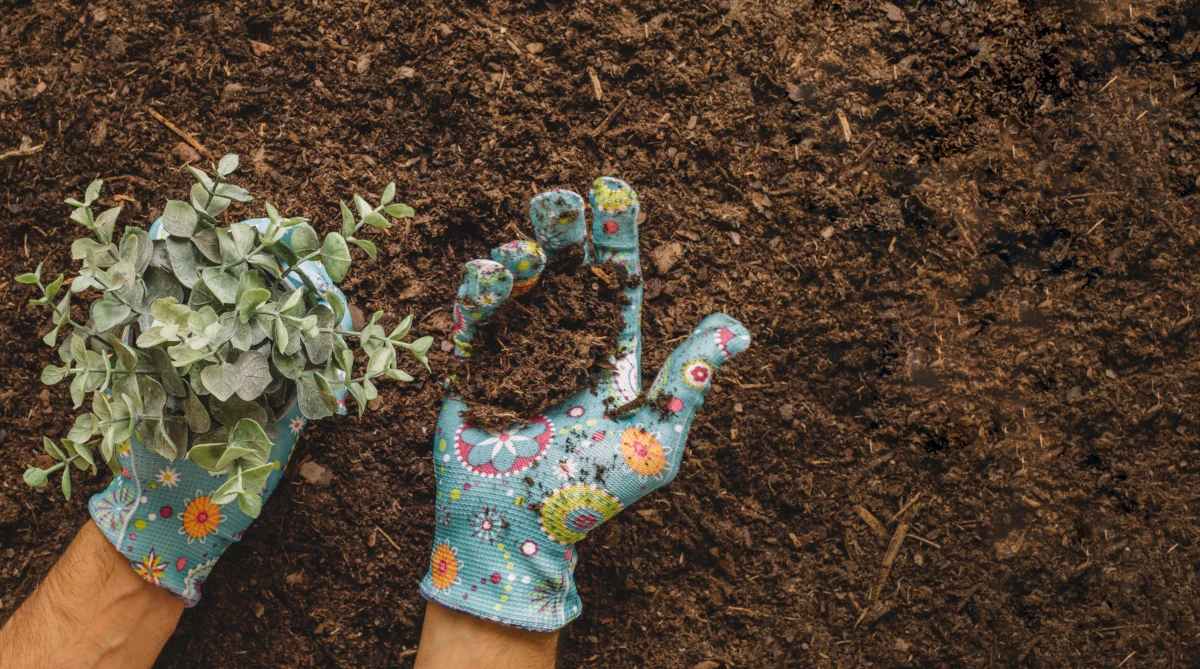
[[[91,411],[61,445],[44,439],[58,464],[30,468],[25,481],[44,486],[61,470],[70,498],[72,466],[107,464],[114,477],[91,498],[94,520],[138,574],[188,604],[258,517],[305,421],[344,412],[347,391],[361,415],[378,379],[412,380],[398,351],[427,366],[432,343],[406,340],[412,317],[386,332],[382,312],[355,331],[335,287],[352,264],[349,245],[376,257],[372,242],[355,237],[364,225],[412,216],[391,203],[394,185],[378,206],[355,195],[356,217],[342,204],[341,231],[318,242],[305,218],[281,217],[270,204],[268,218],[222,227],[217,217],[232,203],[251,200],[226,181],[236,167],[229,155],[212,175],[190,168],[191,201],[169,200],[149,233],[126,228],[120,243],[120,209],[94,215],[102,186],[94,181],[83,201],[67,200],[71,219],[92,233],[71,246],[83,267],[70,290],[61,275],[43,285],[41,265],[17,277],[41,290],[32,303],[53,307],[47,345],[71,329],[59,349],[65,364],[46,367],[42,380],[71,378],[76,408],[91,394]],[[88,323],[77,323],[71,296],[89,289],[100,297]],[[358,376],[349,338],[368,356]]]

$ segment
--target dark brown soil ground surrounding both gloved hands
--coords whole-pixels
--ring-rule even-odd
[[[150,107],[323,230],[395,180],[418,217],[344,288],[418,332],[600,174],[647,213],[646,376],[749,327],[677,481],[581,546],[562,665],[1200,665],[1198,55],[1196,0],[10,4],[0,617],[102,484],[20,481],[72,412],[11,277],[71,266],[95,176],[143,225],[185,192]],[[332,482],[289,477],[160,667],[409,665],[422,380],[307,430]]]

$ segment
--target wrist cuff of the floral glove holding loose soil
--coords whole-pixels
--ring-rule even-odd
[[[518,567],[515,561],[524,563]],[[456,542],[438,532],[421,596],[500,625],[554,632],[583,609],[575,589],[576,561],[574,546],[550,541],[505,546],[473,538]]]

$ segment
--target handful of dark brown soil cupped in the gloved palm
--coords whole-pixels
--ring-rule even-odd
[[[617,350],[629,281],[616,263],[584,266],[582,247],[547,263],[533,290],[510,297],[479,329],[472,358],[452,367],[467,421],[503,430],[595,387]]]

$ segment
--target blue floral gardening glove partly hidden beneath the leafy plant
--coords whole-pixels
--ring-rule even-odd
[[[263,231],[268,219],[244,223]],[[290,234],[292,230],[288,231]],[[156,221],[150,228],[150,239],[162,240],[166,236],[161,219]],[[306,261],[296,271],[302,272],[318,290],[337,291],[346,303],[346,296],[334,285],[320,263]],[[302,285],[299,279],[284,279],[290,290]],[[340,327],[353,329],[349,315],[342,319]],[[337,397],[342,414],[346,412],[344,396],[343,390]],[[265,410],[260,411],[259,423],[274,442],[270,462],[275,464],[275,471],[263,489],[265,501],[280,482],[305,418],[294,399],[280,409],[275,421]],[[214,420],[220,420],[220,416],[214,416]],[[169,460],[152,453],[142,445],[137,433],[116,447],[116,454],[122,470],[107,489],[92,495],[88,502],[92,520],[130,560],[138,575],[166,587],[188,607],[194,605],[200,599],[200,584],[212,566],[229,544],[241,538],[253,518],[236,504],[212,502],[212,493],[226,481],[224,474],[209,472],[188,459]]]

